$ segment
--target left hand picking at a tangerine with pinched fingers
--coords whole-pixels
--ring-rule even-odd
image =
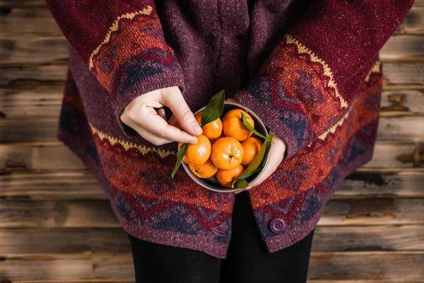
[[[167,106],[173,115],[170,122],[166,121]],[[172,141],[197,143],[197,137],[202,133],[192,110],[184,100],[177,86],[161,88],[135,98],[122,112],[121,121],[138,132],[156,146]],[[181,127],[182,129],[179,129]],[[184,132],[185,131],[185,132]]]

